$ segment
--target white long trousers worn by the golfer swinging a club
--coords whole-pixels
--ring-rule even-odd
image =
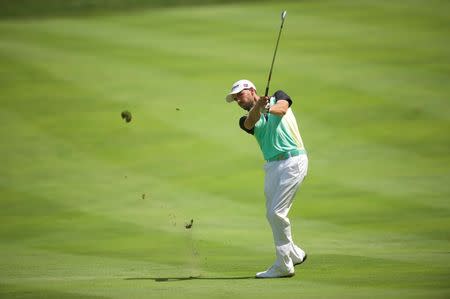
[[[291,269],[301,261],[304,251],[295,245],[291,234],[288,213],[295,194],[308,172],[308,157],[299,155],[264,165],[266,217],[272,227],[277,260],[282,270]]]

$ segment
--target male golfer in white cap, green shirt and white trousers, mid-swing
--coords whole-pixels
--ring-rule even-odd
[[[258,96],[252,82],[239,80],[226,101],[237,102],[248,111],[239,119],[239,126],[255,136],[266,160],[266,217],[272,228],[276,260],[266,271],[256,273],[256,278],[294,276],[294,266],[306,260],[306,253],[293,241],[288,213],[307,174],[308,157],[290,108],[292,99],[281,90],[270,98]]]

